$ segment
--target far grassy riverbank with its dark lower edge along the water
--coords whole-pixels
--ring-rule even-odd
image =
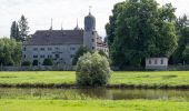
[[[0,72],[1,88],[77,88],[73,71]],[[189,89],[189,71],[113,72],[107,88]]]

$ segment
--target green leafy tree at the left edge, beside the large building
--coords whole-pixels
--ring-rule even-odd
[[[21,43],[8,38],[0,39],[0,64],[19,65],[21,63]]]

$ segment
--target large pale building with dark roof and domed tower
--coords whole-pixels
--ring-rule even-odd
[[[23,43],[22,61],[38,61],[50,58],[57,65],[71,65],[77,50],[86,46],[90,50],[102,50],[109,53],[108,46],[96,31],[96,18],[89,12],[84,18],[84,30],[77,27],[73,30],[38,30],[31,39]]]

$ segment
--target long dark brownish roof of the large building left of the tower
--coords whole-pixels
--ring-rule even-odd
[[[39,30],[26,46],[82,44],[83,30]]]

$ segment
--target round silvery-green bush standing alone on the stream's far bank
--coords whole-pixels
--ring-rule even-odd
[[[86,53],[77,63],[77,83],[82,87],[100,87],[108,83],[111,75],[109,62],[98,52]]]

